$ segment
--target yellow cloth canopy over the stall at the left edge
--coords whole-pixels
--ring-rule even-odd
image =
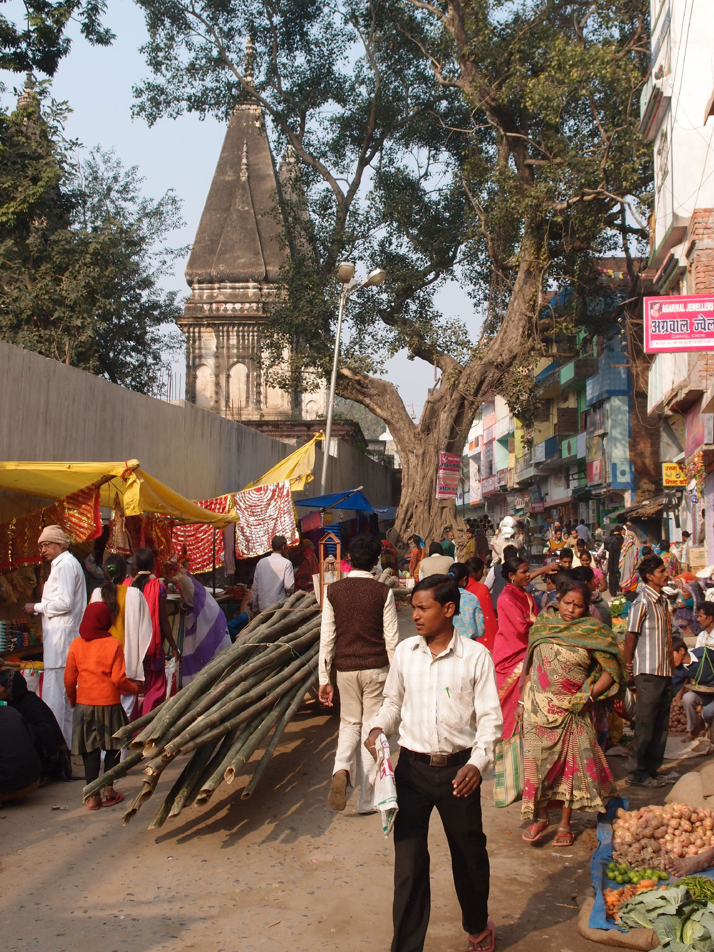
[[[42,499],[61,499],[85,486],[101,484],[102,506],[111,506],[119,493],[125,515],[160,513],[183,523],[207,523],[225,528],[237,516],[217,514],[196,506],[169,486],[145,473],[138,460],[125,463],[0,463],[0,489]]]

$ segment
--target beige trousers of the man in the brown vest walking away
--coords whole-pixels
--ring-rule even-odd
[[[359,786],[357,809],[360,813],[374,809],[377,767],[364,742],[369,733],[369,724],[382,706],[388,670],[388,667],[375,667],[365,671],[337,672],[340,734],[332,773],[347,770],[350,785]]]

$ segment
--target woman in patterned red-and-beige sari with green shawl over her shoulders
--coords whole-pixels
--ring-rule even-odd
[[[605,754],[595,743],[591,706],[611,698],[627,682],[620,646],[608,627],[588,612],[590,590],[559,579],[558,614],[538,616],[530,630],[525,683],[518,702],[524,725],[521,817],[530,820],[523,839],[537,843],[550,825],[548,807],[560,805],[554,846],[571,846],[574,809],[602,813],[616,793]]]

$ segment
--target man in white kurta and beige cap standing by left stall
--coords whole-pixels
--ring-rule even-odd
[[[79,623],[87,607],[87,585],[82,566],[69,553],[69,539],[61,526],[47,526],[38,542],[42,557],[51,563],[50,577],[42,601],[25,605],[25,610],[29,615],[42,615],[42,700],[50,705],[71,747],[72,709],[65,691],[65,665],[69,645],[79,637]]]

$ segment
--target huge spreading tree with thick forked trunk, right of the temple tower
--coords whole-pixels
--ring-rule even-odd
[[[434,536],[453,520],[435,499],[438,452],[461,452],[488,394],[527,410],[551,289],[572,289],[548,306],[551,328],[585,324],[597,256],[619,243],[631,257],[645,237],[647,0],[138,2],[154,73],[140,113],[226,117],[248,100],[290,147],[271,325],[286,383],[327,374],[338,262],[387,268],[350,311],[339,392],[394,437],[398,528]],[[476,342],[433,305],[454,274],[487,302]],[[404,347],[440,374],[418,424],[380,376]]]

